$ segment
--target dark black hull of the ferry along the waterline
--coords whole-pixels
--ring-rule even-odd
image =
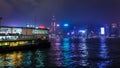
[[[26,40],[28,41],[28,40]],[[30,41],[30,40],[29,40]],[[46,49],[50,48],[50,42],[48,40],[34,40],[34,44],[24,44],[24,45],[18,45],[18,46],[0,46],[0,52],[5,51],[14,51],[14,50],[33,50],[33,49]],[[18,41],[7,41],[7,42],[18,42]]]

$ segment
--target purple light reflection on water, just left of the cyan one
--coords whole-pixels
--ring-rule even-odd
[[[62,66],[62,62],[63,62],[63,59],[61,56],[62,51],[60,49],[60,45],[57,45],[60,43],[55,43],[55,44],[56,45],[53,45],[52,49],[50,50],[48,58],[50,60],[51,66],[53,65],[53,66],[60,67],[60,66]]]

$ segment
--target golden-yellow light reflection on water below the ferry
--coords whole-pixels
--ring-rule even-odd
[[[0,55],[0,67],[4,68],[5,66],[8,67],[19,67],[22,61],[22,53],[20,52],[13,52],[10,54]],[[15,64],[17,63],[17,64]]]

